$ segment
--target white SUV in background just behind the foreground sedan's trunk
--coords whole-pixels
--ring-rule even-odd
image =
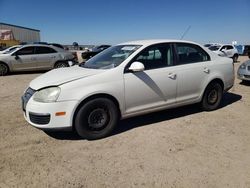
[[[208,49],[212,50],[219,56],[232,58],[234,62],[237,62],[239,57],[238,50],[231,44],[212,45],[208,47]]]

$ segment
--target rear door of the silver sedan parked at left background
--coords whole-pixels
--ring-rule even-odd
[[[54,66],[57,51],[47,46],[36,46],[35,48],[37,69],[50,69]]]

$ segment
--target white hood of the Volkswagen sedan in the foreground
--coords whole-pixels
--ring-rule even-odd
[[[32,80],[30,87],[32,89],[39,90],[49,86],[58,86],[84,77],[100,74],[105,71],[106,70],[100,69],[86,69],[77,65],[67,68],[54,69]]]

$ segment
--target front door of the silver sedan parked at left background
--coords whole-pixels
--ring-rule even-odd
[[[23,47],[11,55],[11,65],[13,70],[35,70],[36,57],[33,46]]]

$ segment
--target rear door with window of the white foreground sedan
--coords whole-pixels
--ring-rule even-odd
[[[210,56],[198,45],[176,43],[177,103],[197,100],[210,73]]]

